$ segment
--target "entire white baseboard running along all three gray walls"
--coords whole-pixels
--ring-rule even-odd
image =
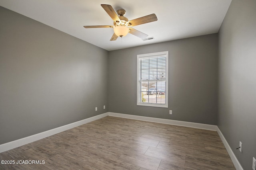
[[[160,119],[160,118],[155,118],[155,117],[145,117],[145,116],[138,116],[138,115],[128,115],[128,114],[122,114],[122,113],[113,113],[113,112],[107,112],[107,113],[102,113],[100,115],[96,115],[94,117],[89,117],[87,119],[77,121],[74,123],[70,123],[68,125],[64,125],[61,127],[57,127],[54,129],[50,129],[48,131],[44,131],[42,133],[38,133],[32,136],[24,137],[22,139],[18,139],[16,141],[11,141],[8,143],[4,143],[0,145],[0,153],[5,152],[10,149],[14,149],[16,147],[20,147],[22,145],[26,145],[28,143],[38,141],[40,139],[43,139],[45,137],[49,137],[51,135],[55,135],[57,133],[66,131],[68,129],[72,129],[74,127],[89,123],[91,121],[95,121],[97,119],[101,119],[106,116],[113,116],[113,117],[122,117],[122,118],[127,118],[127,119],[135,119],[135,120],[141,120],[141,121],[150,121],[150,122],[156,122],[156,123],[164,123],[164,124],[169,124],[169,125],[177,125],[177,126],[184,126],[184,127],[193,127],[193,128],[198,128],[198,129],[206,129],[206,130],[211,130],[211,131],[217,131],[217,133],[220,136],[220,139],[222,140],[226,150],[228,151],[228,154],[230,155],[230,158],[236,167],[237,170],[243,170],[241,164],[237,160],[234,152],[228,145],[228,142],[226,141],[225,137],[221,133],[220,129],[216,125],[207,125],[207,124],[202,124],[202,123],[193,123],[193,122],[186,122],[186,121],[177,121],[177,120],[170,120],[170,119]]]

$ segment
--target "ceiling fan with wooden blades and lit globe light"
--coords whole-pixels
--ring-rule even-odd
[[[102,8],[108,13],[108,15],[114,21],[114,25],[91,25],[91,26],[84,26],[85,28],[114,28],[114,34],[112,35],[110,41],[115,41],[118,37],[124,37],[128,33],[140,37],[144,39],[148,37],[145,33],[142,33],[132,26],[149,23],[153,21],[157,21],[156,14],[150,14],[148,16],[140,17],[134,20],[128,20],[128,18],[124,17],[126,11],[121,9],[117,10],[117,14],[115,10],[112,8],[111,5],[101,4]]]

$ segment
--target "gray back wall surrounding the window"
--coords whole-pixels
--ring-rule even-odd
[[[137,106],[137,55],[160,51],[169,51],[169,108]],[[217,76],[218,34],[110,51],[109,111],[216,125]]]

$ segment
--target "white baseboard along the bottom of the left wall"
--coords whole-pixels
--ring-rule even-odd
[[[91,121],[95,121],[97,119],[101,119],[102,117],[106,117],[106,116],[108,116],[108,113],[102,113],[100,115],[96,115],[94,117],[89,117],[87,119],[76,121],[76,122],[70,123],[68,125],[64,125],[64,126],[61,126],[61,127],[50,129],[48,131],[37,133],[35,135],[24,137],[22,139],[18,139],[18,140],[15,140],[15,141],[4,143],[4,144],[0,145],[0,153],[1,152],[5,152],[5,151],[10,150],[10,149],[14,149],[16,147],[20,147],[22,145],[26,145],[26,144],[34,142],[34,141],[38,141],[38,140],[43,139],[45,137],[49,137],[49,136],[55,135],[57,133],[66,131],[68,129],[72,129],[74,127],[83,125],[85,123],[89,123]]]

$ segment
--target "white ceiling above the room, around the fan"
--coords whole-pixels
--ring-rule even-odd
[[[231,0],[0,0],[0,6],[54,27],[108,51],[217,33]],[[133,20],[156,14],[158,21],[134,26],[154,37],[142,39],[128,34],[109,41],[112,28],[90,28],[84,25],[113,25],[100,4],[114,10],[126,10]]]

